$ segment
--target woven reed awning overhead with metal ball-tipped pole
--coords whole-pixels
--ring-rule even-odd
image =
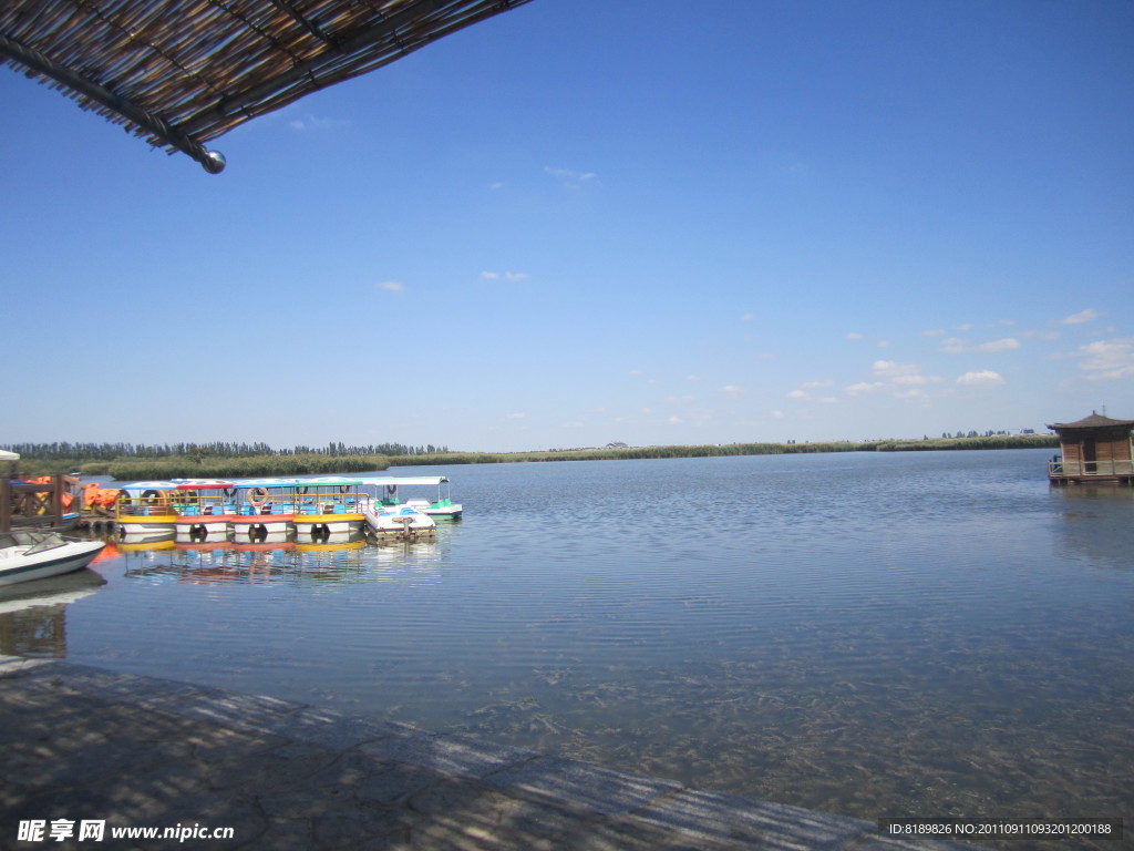
[[[203,143],[528,0],[3,0],[0,64],[215,172]]]

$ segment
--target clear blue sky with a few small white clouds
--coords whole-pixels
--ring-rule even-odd
[[[1134,418],[1132,43],[1125,0],[533,0],[219,176],[0,69],[0,444]]]

